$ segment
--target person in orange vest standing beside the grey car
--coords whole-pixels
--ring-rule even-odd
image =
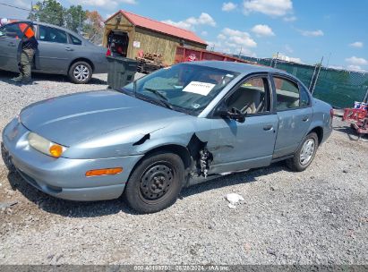
[[[21,62],[20,75],[13,79],[13,81],[21,81],[22,84],[28,84],[31,81],[31,64],[33,56],[39,46],[35,38],[33,25],[28,22],[20,22],[18,24],[21,30]]]

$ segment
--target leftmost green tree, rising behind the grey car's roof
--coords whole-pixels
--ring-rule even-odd
[[[64,26],[65,9],[63,5],[58,3],[56,0],[39,1],[32,7],[32,9],[33,11],[30,12],[28,19],[52,23],[57,26]]]

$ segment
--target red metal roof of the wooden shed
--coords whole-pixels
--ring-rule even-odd
[[[137,27],[141,27],[148,30],[154,30],[177,38],[184,38],[207,46],[207,43],[204,40],[199,38],[190,30],[183,30],[170,24],[167,24],[165,22],[155,21],[150,18],[146,18],[134,13],[129,13],[123,10],[120,10],[117,13],[122,13],[129,21],[133,23],[133,25]],[[107,19],[107,21],[116,16],[117,13],[110,16]]]

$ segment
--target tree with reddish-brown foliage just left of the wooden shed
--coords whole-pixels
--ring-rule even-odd
[[[104,20],[102,16],[97,11],[87,11],[86,17],[87,19],[83,28],[85,38],[90,39],[90,41],[95,44],[100,44],[102,42],[104,29]]]

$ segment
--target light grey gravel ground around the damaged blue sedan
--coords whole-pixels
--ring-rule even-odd
[[[0,73],[0,130],[21,107],[106,89],[38,76],[14,86]],[[283,163],[184,189],[175,205],[136,215],[122,200],[56,200],[0,163],[0,264],[367,264],[368,143],[334,120],[304,173]],[[244,203],[227,207],[236,192]]]

